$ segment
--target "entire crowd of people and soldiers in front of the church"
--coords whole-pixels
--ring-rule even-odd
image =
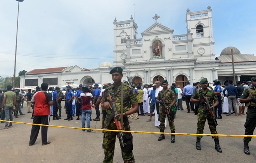
[[[92,107],[95,107],[96,117],[93,121],[100,121],[100,104],[102,108],[102,129],[117,129],[117,124],[114,121],[115,117],[121,117],[121,128],[130,130],[130,119],[139,119],[138,116],[148,115],[147,122],[152,121],[155,116],[154,125],[159,127],[160,132],[166,129],[166,120],[168,119],[171,133],[175,133],[174,119],[177,110],[185,110],[182,102],[185,101],[187,112],[193,111],[197,115],[197,134],[202,134],[206,119],[211,131],[211,134],[218,134],[216,119],[222,119],[222,114],[231,116],[244,115],[245,107],[247,107],[247,117],[245,123],[245,134],[252,135],[256,127],[256,77],[251,78],[251,81],[236,81],[236,85],[232,80],[225,82],[225,85],[220,85],[220,80],[213,81],[213,87],[209,86],[207,78],[201,79],[197,83],[190,85],[186,81],[183,89],[180,85],[176,86],[172,83],[169,87],[168,81],[155,81],[153,84],[133,83],[130,86],[128,81],[122,83],[122,68],[115,67],[110,71],[114,83],[104,85],[99,89],[99,85],[95,84],[93,90],[88,85],[80,84],[78,88],[71,88],[67,85],[65,95],[59,87],[49,87],[47,83],[42,83],[41,87],[36,87],[35,91],[28,90],[25,93],[19,89],[12,90],[10,85],[7,90],[0,91],[0,106],[1,106],[1,122],[5,119],[13,121],[13,114],[18,118],[18,113],[21,112],[24,100],[27,101],[28,114],[32,113],[31,119],[34,124],[49,124],[50,116],[52,120],[61,119],[61,102],[62,97],[65,101],[65,109],[67,117],[64,120],[72,121],[76,113],[76,120],[80,120],[81,126],[86,129],[82,131],[91,132],[90,121],[92,115]],[[117,109],[117,115],[113,115],[110,103],[114,102]],[[239,111],[237,111],[239,106]],[[32,108],[32,112],[31,109]],[[59,115],[58,115],[59,111]],[[62,115],[63,116],[63,115]],[[129,119],[130,117],[130,119]],[[167,118],[166,118],[167,117]],[[5,122],[2,129],[9,129],[12,123]],[[40,126],[32,126],[29,146],[35,144]],[[49,144],[48,127],[42,126],[42,145]],[[132,135],[131,133],[104,131],[103,148],[105,152],[104,162],[112,161],[114,155],[114,143],[116,136],[123,146],[122,157],[124,162],[134,162],[132,153]],[[120,136],[123,139],[120,139]],[[201,138],[196,137],[196,149],[201,150]],[[212,137],[215,143],[215,149],[222,152],[219,138]],[[165,139],[164,134],[160,134],[158,141]],[[251,138],[244,138],[244,153],[250,154],[249,141]],[[125,143],[124,143],[125,142]],[[175,143],[175,135],[171,135],[171,143]]]

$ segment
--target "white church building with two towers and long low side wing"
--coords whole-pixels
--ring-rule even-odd
[[[132,82],[142,84],[167,79],[169,83],[176,83],[182,88],[187,80],[192,84],[206,77],[209,83],[213,83],[219,74],[221,80],[225,76],[232,76],[232,71],[226,71],[230,70],[230,65],[232,67],[230,61],[222,62],[224,57],[216,57],[214,53],[210,6],[197,12],[187,9],[187,33],[182,35],[173,35],[173,29],[157,22],[157,14],[153,19],[155,23],[141,33],[141,38],[138,38],[138,26],[132,17],[126,21],[114,20],[114,63],[106,61],[93,70],[79,66],[35,69],[21,76],[21,87],[35,87],[39,85],[40,78],[52,87],[74,83],[112,83],[109,71],[114,66],[123,68],[123,81],[127,80],[125,76],[131,76]],[[228,55],[223,53],[222,56]],[[246,64],[248,61],[245,59],[244,62]],[[251,55],[249,62],[249,75],[256,75],[256,57]],[[236,64],[240,76],[246,75],[246,70],[241,66],[244,63]]]

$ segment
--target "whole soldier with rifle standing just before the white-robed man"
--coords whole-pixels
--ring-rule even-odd
[[[156,98],[156,101],[160,104],[159,106],[159,121],[160,121],[160,125],[159,125],[159,129],[160,132],[164,132],[165,126],[164,126],[164,122],[166,119],[166,109],[170,109],[170,119],[168,118],[169,121],[169,126],[171,129],[171,133],[175,133],[175,125],[174,125],[174,111],[173,111],[173,105],[176,102],[176,95],[175,93],[170,90],[168,88],[168,81],[167,80],[163,80],[162,81],[162,87],[163,90],[161,90]],[[164,107],[164,102],[167,108]],[[164,134],[161,134],[160,137],[157,139],[158,141],[161,141],[165,139]],[[171,143],[175,142],[175,135],[171,135]]]

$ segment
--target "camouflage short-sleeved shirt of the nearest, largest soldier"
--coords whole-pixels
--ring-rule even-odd
[[[121,87],[114,87],[114,84],[107,86],[102,98],[103,102],[110,102],[109,101],[109,94],[110,94],[112,101],[116,105],[116,109],[118,113],[121,113]],[[138,102],[138,100],[136,98],[136,94],[133,88],[129,85],[123,84],[123,112],[127,112],[130,109],[129,102],[133,104],[135,102]],[[107,109],[107,114],[111,114],[110,109]]]

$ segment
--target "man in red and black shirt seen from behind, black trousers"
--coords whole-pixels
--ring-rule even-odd
[[[41,91],[36,92],[31,100],[32,104],[35,104],[34,109],[34,119],[33,124],[46,124],[49,125],[50,122],[50,105],[53,105],[52,96],[47,93],[48,84],[42,83],[41,84]],[[29,146],[32,146],[36,142],[36,138],[38,136],[38,132],[40,130],[40,126],[32,126]],[[51,142],[48,141],[48,127],[42,126],[41,129],[42,133],[42,145],[50,144]]]

